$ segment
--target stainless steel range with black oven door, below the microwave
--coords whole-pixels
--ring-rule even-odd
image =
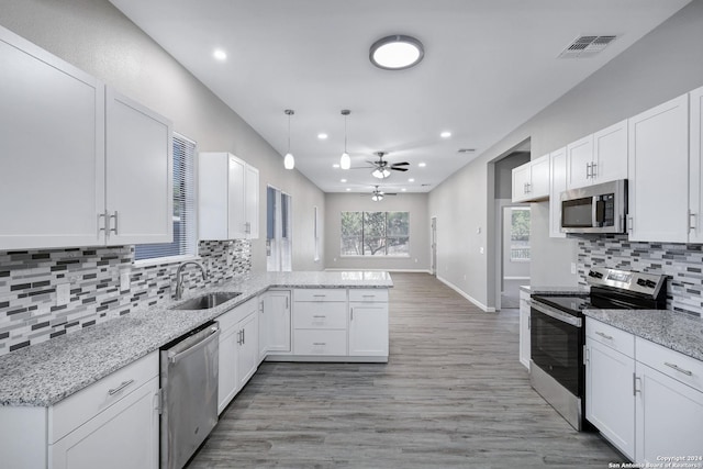
[[[571,426],[584,427],[584,309],[656,310],[666,308],[666,276],[592,268],[590,293],[533,295],[531,300],[532,387]]]

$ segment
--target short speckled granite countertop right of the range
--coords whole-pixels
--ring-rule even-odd
[[[584,310],[583,314],[703,360],[703,320],[669,310]]]

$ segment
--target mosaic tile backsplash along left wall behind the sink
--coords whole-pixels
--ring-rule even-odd
[[[188,266],[186,289],[252,270],[249,241],[200,242],[198,249],[208,279]],[[0,252],[0,355],[169,300],[178,263],[136,267],[133,260],[134,246]],[[120,290],[122,275],[129,289]],[[69,302],[57,306],[64,283]]]

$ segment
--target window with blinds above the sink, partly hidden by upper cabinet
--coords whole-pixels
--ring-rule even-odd
[[[174,241],[138,244],[134,260],[196,256],[196,143],[174,134]]]

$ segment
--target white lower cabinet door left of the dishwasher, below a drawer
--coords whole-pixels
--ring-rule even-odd
[[[49,445],[53,469],[157,468],[158,377]]]

